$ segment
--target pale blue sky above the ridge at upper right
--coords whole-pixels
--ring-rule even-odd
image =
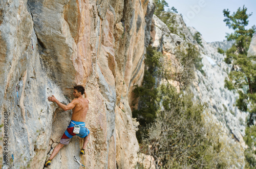
[[[187,26],[194,27],[202,34],[207,42],[225,40],[226,33],[232,33],[224,20],[223,9],[228,9],[230,14],[239,7],[247,8],[249,17],[247,29],[256,26],[256,0],[165,0],[169,7],[175,7],[182,14]]]

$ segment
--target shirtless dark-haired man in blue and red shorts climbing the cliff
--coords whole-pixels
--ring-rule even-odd
[[[86,95],[86,99],[82,97],[83,93]],[[88,143],[88,137],[90,131],[85,127],[86,126],[86,114],[89,109],[89,100],[87,98],[87,93],[85,92],[84,88],[81,85],[74,86],[73,92],[75,99],[68,105],[63,105],[60,103],[54,95],[48,97],[48,101],[56,102],[56,104],[63,110],[71,110],[72,109],[72,117],[71,122],[68,126],[68,129],[64,132],[60,139],[60,143],[54,148],[49,160],[45,163],[45,166],[51,165],[51,160],[58,154],[59,150],[67,145],[70,139],[77,135],[81,138],[84,138],[83,147],[80,151],[80,154],[84,155],[84,149]],[[73,129],[75,125],[80,126],[79,134],[73,133]]]

